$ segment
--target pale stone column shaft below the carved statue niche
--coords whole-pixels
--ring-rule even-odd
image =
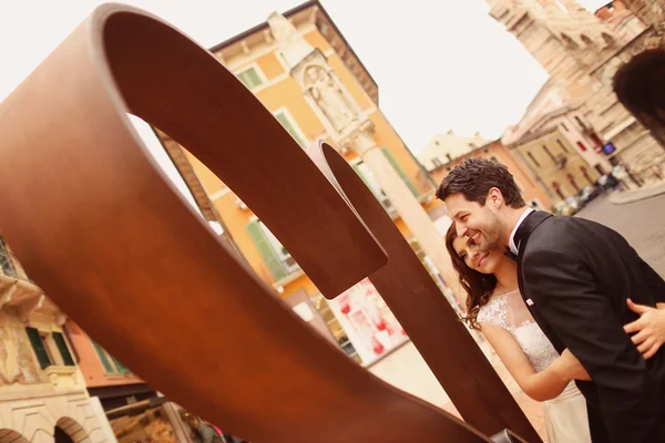
[[[418,239],[424,254],[434,262],[441,277],[446,280],[446,285],[464,306],[464,296],[460,293],[458,275],[452,268],[450,255],[446,249],[446,239],[437,230],[429,215],[395,171],[392,164],[386,158],[371,128],[358,130],[346,146],[352,148],[369,167],[405,225]]]

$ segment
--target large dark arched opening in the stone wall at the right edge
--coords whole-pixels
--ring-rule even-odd
[[[614,91],[621,103],[665,148],[665,50],[647,50],[616,71]]]

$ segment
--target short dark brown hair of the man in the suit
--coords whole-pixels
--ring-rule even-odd
[[[512,208],[525,206],[522,194],[508,168],[499,162],[474,157],[457,165],[441,182],[437,198],[446,200],[452,194],[462,194],[469,202],[484,206],[491,188],[503,194],[505,204]]]

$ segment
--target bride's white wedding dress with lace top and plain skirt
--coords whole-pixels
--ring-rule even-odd
[[[478,323],[490,323],[509,331],[520,343],[533,368],[541,372],[559,353],[524,305],[520,291],[493,296],[480,308]],[[586,401],[574,382],[555,399],[544,402],[549,443],[591,443]]]

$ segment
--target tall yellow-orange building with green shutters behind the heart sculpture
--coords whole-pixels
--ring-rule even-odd
[[[449,258],[428,215],[443,214],[434,210],[436,184],[380,111],[376,82],[323,6],[309,1],[275,12],[211,51],[300,146],[325,140],[339,150],[444,288],[443,279],[452,278]],[[249,266],[304,319],[364,364],[407,340],[368,281],[326,301],[233,189],[166,134],[157,135],[204,218],[222,223]]]

